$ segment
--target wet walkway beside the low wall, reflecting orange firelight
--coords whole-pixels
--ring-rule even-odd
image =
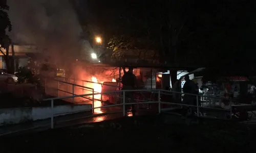
[[[101,112],[100,112],[101,111]],[[90,122],[99,122],[104,120],[112,120],[116,118],[123,117],[121,107],[111,107],[104,108],[92,115],[88,112],[71,114],[66,116],[58,116],[54,118],[54,127],[65,127],[77,124],[84,124]],[[99,114],[100,112],[100,114]],[[150,111],[142,111],[139,110],[136,112],[136,115],[147,115],[152,114]],[[128,116],[132,116],[129,112]],[[28,123],[21,123],[15,125],[7,125],[0,126],[0,136],[8,135],[8,134],[20,134],[26,132],[36,132],[36,131],[44,131],[51,128],[51,119],[41,120],[41,121],[33,121]]]

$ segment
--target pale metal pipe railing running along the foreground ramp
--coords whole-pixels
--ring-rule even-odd
[[[71,83],[69,83],[71,84]],[[74,86],[74,85],[73,85]],[[139,103],[127,103],[127,98],[125,98],[125,93],[127,92],[152,92],[152,93],[157,93],[158,94],[158,98],[156,101],[143,101],[143,102],[139,102]],[[200,115],[200,108],[205,108],[199,105],[199,95],[196,94],[189,94],[189,93],[181,93],[181,92],[175,92],[175,91],[167,91],[167,90],[118,90],[118,91],[113,91],[113,92],[105,92],[105,93],[101,93],[101,94],[110,94],[110,93],[122,93],[122,103],[121,104],[114,104],[114,105],[109,105],[109,106],[102,106],[102,107],[92,107],[92,109],[87,109],[84,111],[88,111],[88,110],[94,110],[94,109],[101,109],[101,108],[108,108],[108,107],[116,107],[116,106],[121,106],[122,107],[122,115],[125,116],[126,110],[125,110],[125,106],[126,105],[139,105],[139,104],[158,104],[158,113],[161,113],[161,104],[166,104],[166,105],[178,105],[178,106],[186,106],[186,107],[194,107],[196,108],[196,112],[197,112],[197,116]],[[178,103],[169,103],[169,102],[165,102],[165,101],[161,101],[161,94],[169,94],[169,93],[178,93],[178,94],[185,94],[185,95],[190,95],[190,96],[196,96],[196,100],[197,100],[197,104],[195,105],[186,105],[186,104],[178,104]],[[47,98],[44,100],[51,100],[51,128],[54,128],[54,110],[53,110],[53,106],[54,106],[54,100],[56,99],[65,99],[65,98],[74,98],[74,97],[86,97],[86,96],[92,96],[94,97],[94,95],[99,94],[98,92],[95,93],[95,91],[92,89],[92,93],[91,94],[81,94],[81,95],[72,95],[72,96],[64,96],[64,97],[54,97],[54,98]],[[93,103],[94,103],[94,98],[92,99]],[[219,111],[225,111],[225,112],[229,112],[230,113],[230,119],[232,116],[232,105],[230,103],[230,109],[219,109],[219,108],[207,108],[207,109],[212,109],[212,110],[219,110]]]

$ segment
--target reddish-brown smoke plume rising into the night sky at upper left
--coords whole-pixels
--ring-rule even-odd
[[[14,43],[36,45],[57,65],[79,55],[82,30],[69,0],[9,0],[8,5]]]

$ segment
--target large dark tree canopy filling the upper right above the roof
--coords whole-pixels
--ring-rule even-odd
[[[233,65],[242,70],[255,61],[248,56],[256,44],[253,1],[89,2],[94,24],[115,51],[152,48],[163,65],[222,71]],[[171,75],[176,80],[176,70]]]

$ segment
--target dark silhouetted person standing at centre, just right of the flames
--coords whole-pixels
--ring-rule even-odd
[[[135,90],[137,87],[137,78],[133,74],[133,68],[129,67],[129,70],[126,72],[125,68],[123,68],[123,77],[121,83],[123,84],[122,90]],[[134,92],[125,92],[125,103],[134,103]],[[125,106],[125,111],[128,111],[130,105]],[[132,113],[135,115],[135,107],[132,105]]]

